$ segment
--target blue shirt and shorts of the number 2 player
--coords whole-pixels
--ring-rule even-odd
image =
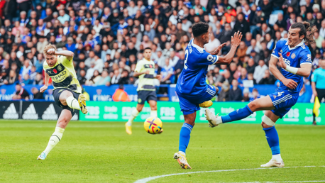
[[[184,70],[176,85],[180,109],[185,115],[198,111],[199,104],[216,96],[216,88],[206,84],[206,73],[208,66],[215,64],[218,58],[195,45],[193,40],[189,41],[185,50]]]

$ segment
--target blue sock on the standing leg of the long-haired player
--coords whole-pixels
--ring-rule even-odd
[[[272,150],[272,155],[280,154],[279,135],[277,135],[275,126],[263,128],[263,131],[265,131],[265,137],[266,140],[268,140],[268,145]]]

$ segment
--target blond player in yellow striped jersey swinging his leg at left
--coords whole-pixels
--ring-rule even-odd
[[[73,52],[67,50],[57,51],[55,45],[50,44],[45,46],[44,55],[45,84],[40,88],[40,92],[43,93],[48,89],[48,81],[51,78],[54,87],[55,104],[63,110],[57,120],[57,126],[50,137],[48,146],[38,156],[38,160],[45,160],[48,153],[60,142],[65,127],[67,127],[77,110],[87,113],[86,101],[73,66]]]

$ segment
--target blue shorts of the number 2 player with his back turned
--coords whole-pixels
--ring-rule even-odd
[[[184,115],[194,113],[199,111],[199,104],[204,101],[209,101],[214,96],[216,96],[216,88],[214,86],[208,85],[205,91],[202,91],[200,94],[191,95],[191,94],[180,94],[177,92],[177,96],[180,99],[180,109]]]

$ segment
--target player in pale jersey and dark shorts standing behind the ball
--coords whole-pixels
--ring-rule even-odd
[[[133,120],[142,111],[145,101],[148,101],[150,105],[150,116],[157,118],[157,95],[155,94],[155,87],[153,86],[153,79],[160,79],[160,75],[154,76],[155,74],[155,62],[150,60],[151,48],[145,48],[143,50],[143,59],[136,64],[136,70],[134,70],[134,77],[139,77],[138,83],[138,105],[131,113],[128,122],[125,124],[126,133],[132,134],[132,123]],[[161,129],[160,133],[163,132]]]

